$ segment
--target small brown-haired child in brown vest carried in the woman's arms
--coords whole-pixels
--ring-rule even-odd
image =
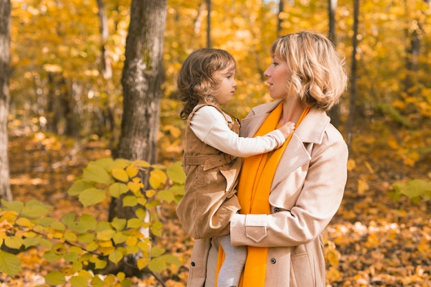
[[[294,129],[288,122],[265,136],[238,136],[238,119],[220,108],[235,92],[235,69],[229,52],[205,48],[187,57],[178,76],[180,99],[185,103],[180,116],[187,120],[183,162],[187,179],[177,214],[192,237],[214,237],[212,244],[222,246],[226,258],[218,287],[238,286],[246,259],[246,246],[231,246],[229,235],[215,237],[240,210],[235,188],[241,158],[277,149]]]

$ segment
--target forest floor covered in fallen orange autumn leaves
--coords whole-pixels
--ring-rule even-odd
[[[365,133],[364,133],[365,134]],[[357,135],[350,159],[344,200],[326,228],[327,286],[431,286],[431,202],[398,202],[388,197],[397,181],[429,181],[430,156],[412,164],[390,148],[377,133]],[[36,199],[53,206],[52,217],[91,213],[107,217],[107,204],[83,209],[67,195],[74,178],[90,160],[110,156],[104,142],[75,142],[45,134],[12,134],[9,139],[10,178],[14,200]],[[330,172],[330,171],[329,171]],[[185,287],[191,240],[176,218],[175,206],[164,206],[164,235],[157,244],[177,255],[183,266],[160,274],[167,287]],[[20,254],[23,270],[14,278],[0,274],[0,287],[44,284],[43,275],[59,268],[40,259],[42,251]],[[162,286],[148,276],[134,279],[139,287]]]

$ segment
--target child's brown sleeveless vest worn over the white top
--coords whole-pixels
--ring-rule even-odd
[[[218,235],[240,210],[236,185],[241,158],[235,158],[204,144],[191,130],[193,114],[208,104],[197,105],[187,119],[183,168],[187,175],[185,195],[176,212],[182,226],[195,239]],[[215,107],[215,106],[213,106]],[[223,114],[224,112],[215,107]],[[240,123],[234,118],[229,128],[239,133]]]

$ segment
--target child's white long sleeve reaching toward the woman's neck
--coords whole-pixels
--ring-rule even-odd
[[[264,136],[242,138],[229,129],[228,122],[232,122],[229,115],[223,115],[215,107],[207,105],[195,112],[191,118],[190,127],[205,144],[231,156],[242,158],[272,151],[281,147],[286,141],[278,129]]]

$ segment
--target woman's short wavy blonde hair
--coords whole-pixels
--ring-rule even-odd
[[[302,31],[280,36],[271,45],[271,56],[286,61],[291,73],[286,90],[308,106],[328,110],[347,88],[345,59],[322,34]]]

